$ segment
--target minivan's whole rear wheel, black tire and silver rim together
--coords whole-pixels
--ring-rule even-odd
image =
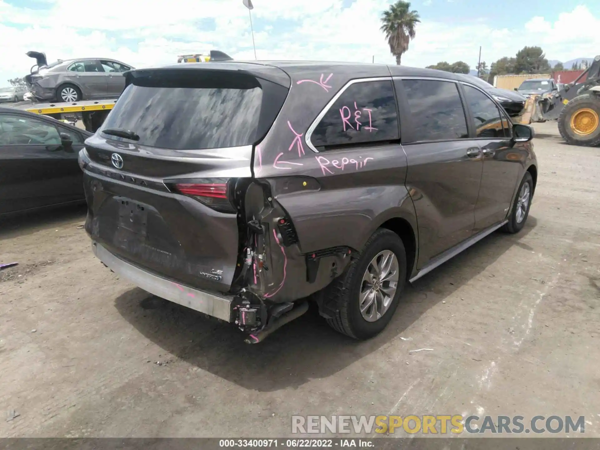
[[[340,310],[327,319],[332,328],[355,339],[368,339],[388,325],[406,280],[406,251],[394,232],[379,229],[361,257],[326,288]]]

